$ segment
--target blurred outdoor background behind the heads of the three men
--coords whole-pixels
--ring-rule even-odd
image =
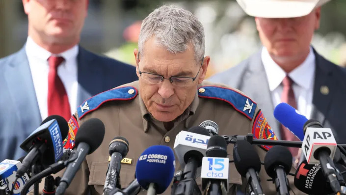
[[[202,22],[206,55],[211,56],[208,76],[239,63],[261,47],[254,18],[247,16],[236,0],[89,0],[80,44],[134,64],[141,20],[165,3],[190,10]],[[322,56],[340,65],[346,65],[345,10],[346,0],[324,5],[320,28],[312,41]],[[18,51],[26,39],[27,16],[22,1],[0,0],[0,57]]]

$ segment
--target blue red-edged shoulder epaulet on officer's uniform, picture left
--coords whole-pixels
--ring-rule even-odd
[[[102,104],[114,100],[131,100],[137,96],[137,89],[125,86],[110,89],[85,100],[77,108],[78,117],[81,119],[85,114],[98,109]]]

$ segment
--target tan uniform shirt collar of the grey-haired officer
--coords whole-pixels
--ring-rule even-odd
[[[139,87],[138,87],[139,88]],[[176,121],[183,121],[185,120],[185,128],[187,128],[188,123],[190,121],[190,116],[193,115],[198,107],[199,104],[199,100],[198,100],[198,94],[197,94],[197,89],[196,89],[196,94],[195,97],[192,100],[192,103],[190,104],[190,106],[186,109],[186,111],[184,111],[184,113],[182,115],[180,115]],[[143,100],[141,97],[139,97],[139,109],[142,113],[142,119],[143,119],[143,130],[144,132],[147,132],[149,129],[149,120],[154,120],[153,116],[149,113],[147,107],[145,106]]]

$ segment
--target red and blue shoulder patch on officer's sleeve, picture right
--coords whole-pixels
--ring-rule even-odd
[[[254,124],[252,125],[252,134],[255,139],[272,139],[277,140],[273,130],[271,129],[266,117],[260,110],[255,118]],[[268,151],[272,146],[261,145],[263,149]]]

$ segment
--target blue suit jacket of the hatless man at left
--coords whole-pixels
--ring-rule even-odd
[[[79,47],[78,105],[138,79],[135,67]],[[74,108],[77,110],[77,108]],[[0,59],[0,162],[26,155],[19,146],[42,122],[25,47]]]

